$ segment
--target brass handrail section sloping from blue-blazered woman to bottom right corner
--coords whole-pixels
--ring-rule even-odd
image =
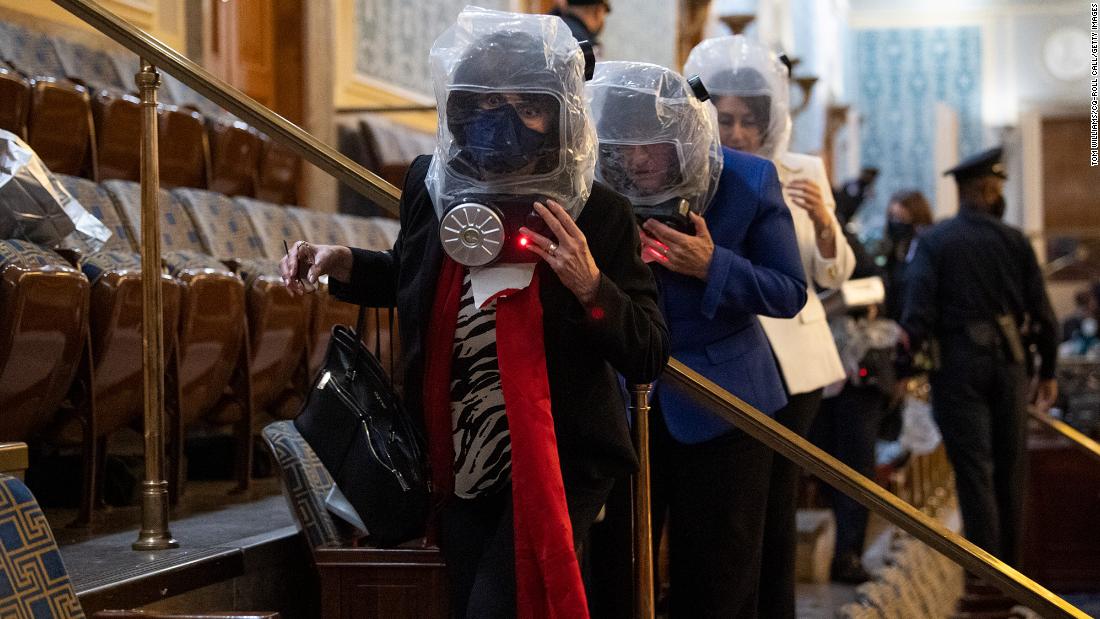
[[[669,360],[661,380],[664,384],[663,388],[676,386],[684,389],[690,397],[715,414],[737,425],[778,454],[856,499],[955,563],[997,585],[1008,596],[1043,617],[1078,619],[1089,617],[679,361]]]

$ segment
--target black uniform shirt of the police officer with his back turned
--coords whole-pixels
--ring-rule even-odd
[[[1027,319],[1042,357],[1042,378],[1054,377],[1057,322],[1027,239],[989,214],[964,208],[924,232],[905,272],[901,325],[917,346],[930,335],[1011,314]]]

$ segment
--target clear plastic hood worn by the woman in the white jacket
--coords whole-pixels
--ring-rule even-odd
[[[738,97],[752,110],[763,134],[754,154],[777,161],[787,152],[791,87],[776,53],[740,34],[706,38],[691,51],[684,74],[700,76],[715,104],[723,97]]]

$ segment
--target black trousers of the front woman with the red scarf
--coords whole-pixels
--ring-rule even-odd
[[[607,500],[610,479],[565,483],[580,554],[588,528]],[[512,619],[516,616],[516,543],[512,487],[472,499],[454,497],[440,518],[440,550],[447,561],[451,616]]]

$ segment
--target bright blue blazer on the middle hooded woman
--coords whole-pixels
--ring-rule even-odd
[[[672,356],[771,414],[783,380],[757,314],[792,318],[806,302],[794,222],[768,159],[723,148],[718,189],[704,213],[714,239],[706,281],[657,266]],[[669,432],[701,443],[734,429],[680,389],[658,385]]]

